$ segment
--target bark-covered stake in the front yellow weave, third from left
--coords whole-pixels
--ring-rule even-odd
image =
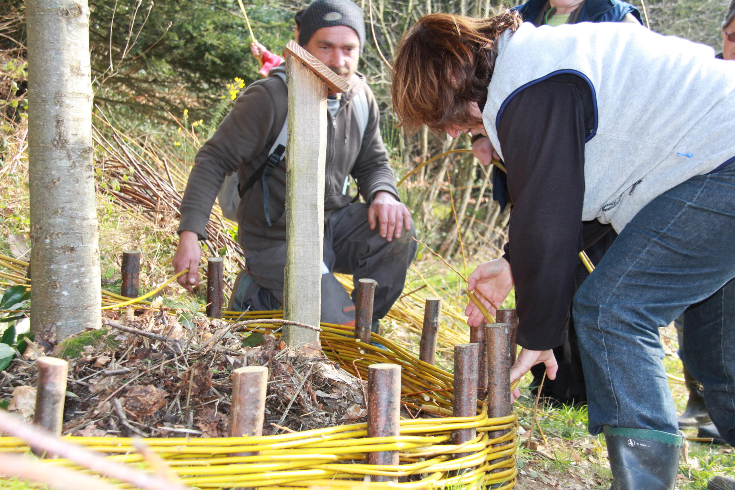
[[[401,366],[371,364],[368,367],[368,437],[400,435]],[[368,464],[398,464],[398,451],[368,453]],[[373,481],[396,481],[373,476]]]

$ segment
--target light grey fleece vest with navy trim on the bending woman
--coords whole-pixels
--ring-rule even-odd
[[[620,232],[656,196],[735,161],[735,62],[628,23],[526,22],[501,36],[482,114],[498,154],[509,101],[560,73],[589,83],[595,104],[582,220]]]

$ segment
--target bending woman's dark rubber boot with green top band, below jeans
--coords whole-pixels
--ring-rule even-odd
[[[684,436],[605,426],[610,490],[673,490]]]

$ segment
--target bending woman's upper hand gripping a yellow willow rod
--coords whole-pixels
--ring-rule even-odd
[[[490,314],[495,315],[495,307],[487,302],[485,298],[492,301],[496,305],[500,305],[505,300],[506,296],[513,287],[513,276],[510,273],[510,264],[506,259],[495,259],[490,262],[484,262],[479,264],[470,277],[467,278],[467,291],[477,290],[479,295],[477,299],[480,300],[490,311]],[[484,298],[483,298],[484,296]],[[465,308],[465,315],[467,315],[467,325],[476,327],[480,325],[482,320],[485,319],[484,315],[475,306],[475,303],[470,303]]]

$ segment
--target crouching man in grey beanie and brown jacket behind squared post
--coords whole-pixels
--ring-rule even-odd
[[[380,135],[379,109],[365,76],[357,73],[365,42],[362,11],[349,0],[316,0],[301,16],[298,42],[350,83],[329,93],[324,197],[321,319],[354,325],[354,300],[333,273],[378,282],[373,331],[401,295],[416,245],[411,215],[399,200],[395,176]],[[173,256],[179,284],[199,284],[198,240],[226,177],[237,173],[237,240],[245,270],[237,276],[229,309],[281,309],[286,264],[286,165],[282,134],[287,115],[285,69],[248,86],[195,158],[181,205],[179,246]],[[282,144],[280,144],[282,143]],[[270,162],[270,165],[269,163]],[[365,203],[348,195],[348,178]],[[234,177],[234,176],[233,176]],[[231,177],[230,179],[232,180]],[[265,196],[265,197],[264,197]],[[221,196],[222,197],[222,196]],[[222,202],[221,202],[222,204]],[[224,206],[223,206],[224,207]],[[356,288],[355,288],[356,291]],[[353,296],[356,292],[353,293]]]

